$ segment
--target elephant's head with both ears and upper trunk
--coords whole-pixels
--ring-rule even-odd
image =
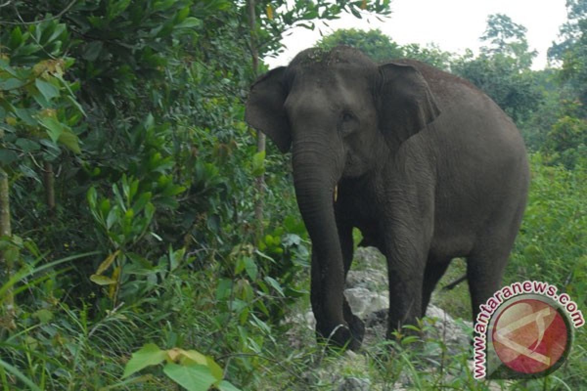
[[[382,154],[393,154],[437,114],[414,67],[377,66],[356,49],[336,47],[304,50],[288,67],[259,78],[246,120],[282,152],[292,149],[296,196],[313,250],[319,259],[340,260],[336,183],[376,169]],[[339,273],[338,263],[326,262],[329,273]]]

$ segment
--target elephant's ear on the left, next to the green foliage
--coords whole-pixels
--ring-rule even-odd
[[[245,121],[271,138],[281,152],[289,151],[292,138],[284,103],[287,89],[285,67],[270,70],[251,87],[245,107]]]

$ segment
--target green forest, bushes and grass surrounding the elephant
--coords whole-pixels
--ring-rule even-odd
[[[490,95],[532,166],[504,283],[548,280],[587,311],[587,1],[567,9],[544,70],[530,67],[524,26],[502,14],[488,18],[478,55],[398,45],[377,30],[338,30],[319,45],[419,59]],[[259,59],[283,50],[284,33],[345,11],[392,9],[0,0],[3,390],[332,389],[313,370],[336,355],[292,350],[282,322],[308,306],[289,158],[271,142],[265,152],[243,114],[267,69]],[[466,290],[451,300],[466,318]],[[393,385],[403,369],[429,366],[409,342],[369,354],[372,376]],[[414,370],[414,384],[487,389],[469,356]],[[583,328],[563,368],[504,387],[583,389],[586,375]]]

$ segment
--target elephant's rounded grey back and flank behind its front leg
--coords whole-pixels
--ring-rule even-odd
[[[463,243],[473,246],[488,225],[517,226],[529,168],[515,124],[470,82],[427,64],[406,63],[423,74],[441,111],[417,140],[434,162],[435,242],[446,245],[451,238],[462,249]]]

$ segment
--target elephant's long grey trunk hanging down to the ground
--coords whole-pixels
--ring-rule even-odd
[[[312,308],[317,331],[325,337],[345,324],[345,273],[333,205],[342,168],[323,153],[328,149],[317,142],[294,142],[293,150],[296,198],[312,239]]]

